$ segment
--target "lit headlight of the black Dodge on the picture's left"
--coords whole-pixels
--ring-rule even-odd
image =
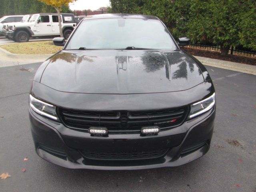
[[[58,120],[55,106],[42,102],[34,98],[32,95],[29,95],[29,104],[30,107],[38,114],[53,120]]]

